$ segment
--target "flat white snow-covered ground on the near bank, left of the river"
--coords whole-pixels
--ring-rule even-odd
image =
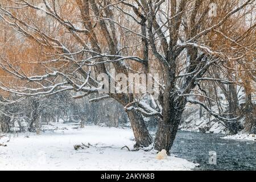
[[[74,145],[81,143],[89,148],[76,151]],[[130,129],[98,126],[80,129],[74,125],[53,124],[39,135],[27,133],[0,137],[0,144],[0,170],[144,171],[190,170],[195,167],[195,164],[173,155],[157,160],[155,151],[121,150],[123,146],[133,148]]]

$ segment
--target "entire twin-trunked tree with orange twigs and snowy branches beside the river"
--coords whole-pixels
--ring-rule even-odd
[[[39,2],[45,8],[39,7]],[[237,119],[212,111],[195,100],[195,96],[213,100],[200,84],[205,80],[216,81],[216,78],[206,78],[205,73],[212,65],[234,59],[225,52],[226,47],[216,46],[218,40],[214,35],[227,31],[229,27],[224,24],[238,14],[251,12],[247,7],[254,7],[255,1],[216,1],[216,16],[211,3],[202,0],[76,0],[72,3],[20,0],[2,3],[0,14],[7,26],[38,44],[46,53],[40,64],[47,65],[47,73],[27,76],[2,56],[2,69],[29,83],[22,89],[5,85],[1,89],[21,97],[46,96],[66,90],[84,92],[76,96],[79,98],[102,89],[96,80],[100,73],[112,80],[110,68],[126,76],[160,72],[160,95],[154,108],[133,93],[108,93],[108,97],[125,107],[134,131],[135,146],[151,144],[152,138],[142,115],[154,115],[159,120],[155,149],[169,151],[187,102],[201,105],[222,121]],[[38,11],[46,17],[36,16]],[[240,35],[251,31],[251,27],[254,25],[246,27]],[[218,81],[226,82],[221,78]],[[34,85],[31,86],[31,82]]]

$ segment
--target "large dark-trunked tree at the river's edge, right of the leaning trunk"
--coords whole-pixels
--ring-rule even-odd
[[[224,52],[224,48],[214,47],[211,43],[214,42],[212,38],[214,30],[229,28],[223,26],[224,23],[239,11],[244,10],[250,3],[254,1],[246,1],[241,5],[238,5],[238,1],[219,1],[217,7],[220,11],[213,18],[208,17],[209,2],[207,1],[141,1],[138,3],[137,7],[144,12],[138,15],[147,19],[148,43],[152,54],[163,65],[165,74],[164,90],[160,96],[160,104],[163,108],[162,118],[160,118],[155,139],[157,150],[163,148],[170,150],[187,102],[203,106],[217,119],[233,121],[233,118],[225,118],[220,113],[214,113],[191,96],[196,96],[192,91],[196,86],[200,89],[201,81],[214,80],[214,78],[203,77],[211,65],[220,64],[226,57],[232,59]],[[141,12],[131,3],[126,5],[133,7],[137,13]],[[247,29],[250,30],[251,27]]]

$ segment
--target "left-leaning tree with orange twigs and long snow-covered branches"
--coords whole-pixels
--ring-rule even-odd
[[[45,9],[37,6],[39,2],[44,3]],[[46,71],[49,73],[42,76],[36,73],[38,75],[32,77],[27,76],[24,71],[18,71],[10,60],[2,56],[1,65],[7,73],[29,82],[26,88],[23,89],[10,89],[10,87],[6,89],[3,86],[2,89],[8,92],[25,97],[38,94],[47,96],[65,90],[75,90],[76,92],[85,93],[81,96],[76,96],[76,98],[85,97],[88,94],[97,93],[100,87],[99,82],[91,76],[90,68],[86,70],[86,67],[94,65],[93,61],[99,62],[94,65],[96,75],[108,73],[108,69],[102,63],[113,63],[118,73],[127,75],[126,66],[119,63],[119,61],[129,59],[143,61],[137,56],[118,55],[117,37],[114,37],[115,27],[111,23],[112,29],[109,30],[109,25],[106,24],[105,20],[98,20],[100,17],[97,16],[99,16],[101,7],[96,2],[76,1],[76,3],[63,3],[61,1],[52,1],[49,4],[47,1],[34,3],[31,1],[7,1],[5,5],[1,5],[0,9],[5,23],[27,39],[33,40],[42,48],[42,52],[45,51],[47,55],[50,55],[50,59],[43,61],[43,63],[41,62],[47,67]],[[48,20],[44,21],[44,18],[37,16],[36,13],[38,11],[42,14],[45,13]],[[113,16],[110,6],[105,11],[109,18]],[[27,17],[28,13],[30,13],[30,18]],[[73,13],[74,16],[69,13]],[[96,18],[93,18],[93,16]],[[77,19],[72,19],[72,17]],[[48,29],[46,26],[48,26]],[[110,34],[113,34],[113,37]],[[101,35],[104,35],[105,40],[99,39]],[[113,42],[113,39],[115,39],[115,42]],[[42,70],[44,69],[42,68],[40,72]],[[59,79],[57,84],[56,82],[52,84],[56,79]],[[40,82],[39,86],[35,82],[36,84]],[[123,106],[133,100],[133,94],[109,95]],[[152,138],[147,131],[142,114],[137,110],[127,111],[127,114],[134,131],[135,146],[148,146],[151,144]]]

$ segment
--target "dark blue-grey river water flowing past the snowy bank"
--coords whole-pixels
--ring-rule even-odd
[[[196,170],[256,170],[256,142],[221,137],[224,135],[179,131],[171,152],[199,163]],[[209,164],[210,151],[216,152],[216,165]]]

